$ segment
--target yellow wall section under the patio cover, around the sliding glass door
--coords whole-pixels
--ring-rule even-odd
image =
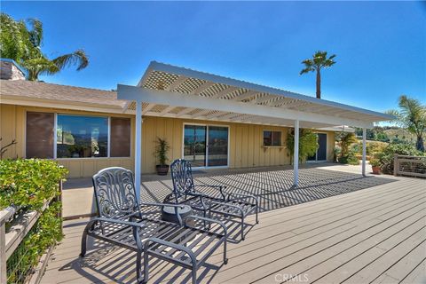
[[[285,148],[264,148],[263,130],[281,130],[284,144],[287,128],[242,124],[231,122],[207,122],[176,118],[144,117],[142,127],[142,171],[155,170],[155,138],[166,138],[170,142],[170,161],[182,157],[183,131],[185,123],[229,126],[229,166],[230,168],[274,166],[289,163]]]

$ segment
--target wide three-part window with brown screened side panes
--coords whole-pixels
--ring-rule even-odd
[[[130,118],[28,112],[26,131],[27,158],[130,157]]]

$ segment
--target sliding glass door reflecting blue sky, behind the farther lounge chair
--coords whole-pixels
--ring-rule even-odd
[[[184,126],[184,159],[193,167],[228,165],[228,128],[224,126]]]

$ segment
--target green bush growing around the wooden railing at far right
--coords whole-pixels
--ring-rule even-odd
[[[422,152],[418,151],[411,144],[390,144],[383,149],[379,160],[381,170],[385,174],[393,174],[393,159],[395,154],[422,156]]]

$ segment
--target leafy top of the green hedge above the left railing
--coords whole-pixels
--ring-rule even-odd
[[[67,170],[51,160],[0,161],[0,209],[14,205],[40,211],[45,201],[58,196],[59,180],[66,175]]]

